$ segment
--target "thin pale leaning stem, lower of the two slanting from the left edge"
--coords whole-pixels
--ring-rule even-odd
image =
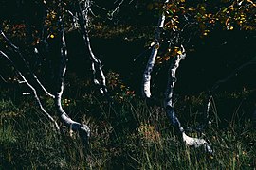
[[[38,95],[37,92],[35,90],[35,88],[27,81],[26,77],[23,76],[23,74],[17,69],[17,67],[15,66],[15,64],[12,62],[11,59],[9,59],[9,57],[7,56],[7,54],[5,54],[3,51],[0,51],[1,56],[5,57],[6,59],[9,60],[9,62],[11,63],[11,65],[13,65],[13,67],[15,68],[16,73],[22,77],[23,82],[27,84],[28,88],[33,92],[33,95],[36,99],[36,102],[40,108],[40,110],[43,111],[43,113],[46,115],[46,117],[54,124],[54,126],[56,127],[56,129],[59,131],[60,127],[58,126],[57,122],[53,119],[53,117],[51,117],[51,115],[44,109]]]

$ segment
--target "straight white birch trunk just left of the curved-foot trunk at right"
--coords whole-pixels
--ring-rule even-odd
[[[165,3],[168,3],[169,0],[166,0]],[[148,63],[146,65],[144,74],[143,74],[143,82],[142,82],[142,95],[146,98],[151,97],[151,73],[153,71],[155,65],[155,58],[158,53],[158,49],[160,47],[160,34],[162,32],[163,26],[165,22],[165,12],[159,17],[158,24],[155,31],[155,45],[152,48],[151,55],[149,57]]]

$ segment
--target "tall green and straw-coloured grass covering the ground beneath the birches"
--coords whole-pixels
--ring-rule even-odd
[[[212,105],[212,124],[204,131],[214,149],[210,156],[202,148],[181,143],[160,107],[148,106],[129,89],[119,89],[117,93],[112,105],[88,93],[80,99],[64,98],[64,109],[92,130],[87,147],[78,134],[67,135],[68,129],[61,135],[52,130],[46,118],[40,119],[41,113],[32,98],[11,98],[9,92],[2,93],[1,169],[256,168],[256,132],[253,122],[245,116],[247,110],[243,105],[229,110],[220,106],[225,97],[229,100],[233,95],[219,95]],[[176,103],[179,116],[189,114],[183,116],[187,119],[182,120],[184,125],[198,124],[205,99],[204,94],[180,98]],[[44,101],[47,110],[57,118],[52,101]],[[222,116],[224,113],[230,119]]]

